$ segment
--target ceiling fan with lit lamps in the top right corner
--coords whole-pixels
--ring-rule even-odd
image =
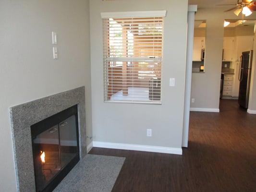
[[[237,0],[237,4],[221,4],[221,5],[236,5],[235,7],[225,11],[233,11],[238,16],[241,12],[245,16],[249,16],[253,13],[253,11],[256,11],[256,1],[254,0]]]

